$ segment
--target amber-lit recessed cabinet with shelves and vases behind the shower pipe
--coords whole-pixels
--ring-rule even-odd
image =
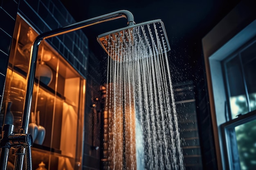
[[[21,123],[30,48],[37,35],[18,15],[1,109],[1,114],[6,113],[8,103],[11,104],[13,117],[6,116],[4,123],[12,121],[16,133]],[[29,128],[31,133],[35,126],[40,129],[33,139],[33,169],[41,161],[47,170],[81,169],[85,83],[84,77],[47,42],[40,44]],[[11,166],[12,156],[9,161]]]

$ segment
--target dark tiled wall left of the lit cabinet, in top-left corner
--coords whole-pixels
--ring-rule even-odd
[[[17,9],[18,0],[0,0],[0,106]]]

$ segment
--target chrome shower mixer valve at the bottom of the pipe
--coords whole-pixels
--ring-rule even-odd
[[[31,134],[14,134],[14,125],[4,124],[0,127],[0,169],[7,169],[9,149],[25,148],[26,150],[26,170],[30,170],[31,165],[31,146],[33,139]],[[24,153],[25,154],[25,153]],[[30,164],[30,165],[28,165]]]

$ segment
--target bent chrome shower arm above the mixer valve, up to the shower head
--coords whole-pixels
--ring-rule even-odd
[[[94,24],[99,24],[101,22],[106,22],[110,20],[115,20],[117,18],[126,18],[128,26],[134,24],[134,18],[130,11],[121,10],[112,13],[108,13],[106,15],[101,15],[95,18],[91,18],[88,20],[84,20],[81,22],[77,22],[74,24],[70,24],[68,26],[64,26],[62,28],[58,28],[52,31],[48,31],[42,33],[36,37],[31,46],[31,53],[30,53],[30,61],[29,61],[29,71],[27,74],[27,88],[25,94],[25,103],[23,106],[23,113],[22,113],[22,122],[19,128],[20,133],[27,134],[28,132],[28,124],[29,124],[29,117],[30,117],[30,109],[31,109],[31,101],[32,101],[32,94],[33,94],[33,85],[34,85],[34,77],[36,72],[36,60],[37,60],[37,53],[38,53],[38,46],[42,40],[47,38],[52,38],[58,35],[62,35],[65,33],[69,33],[72,31],[76,31],[87,26],[91,26]]]

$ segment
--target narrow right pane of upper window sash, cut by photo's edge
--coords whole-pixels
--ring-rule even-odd
[[[256,42],[241,53],[251,110],[256,110]]]

